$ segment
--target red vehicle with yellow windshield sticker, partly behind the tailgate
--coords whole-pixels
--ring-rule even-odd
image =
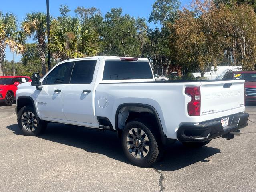
[[[244,79],[245,101],[256,102],[256,71],[228,71],[222,79]]]

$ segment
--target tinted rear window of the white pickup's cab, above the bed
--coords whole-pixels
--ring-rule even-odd
[[[102,80],[152,79],[148,62],[105,61]]]

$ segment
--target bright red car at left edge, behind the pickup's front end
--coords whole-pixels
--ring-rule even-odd
[[[0,102],[12,105],[15,100],[17,86],[31,81],[28,76],[0,76]]]

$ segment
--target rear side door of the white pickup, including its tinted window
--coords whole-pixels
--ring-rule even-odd
[[[93,97],[98,59],[76,61],[62,94],[62,108],[69,121],[93,123]]]

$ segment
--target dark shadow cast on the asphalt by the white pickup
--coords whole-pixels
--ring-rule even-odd
[[[14,134],[21,134],[17,124],[7,126],[7,128]],[[79,126],[50,123],[45,133],[39,138],[81,148],[91,153],[104,154],[115,160],[131,164],[123,154],[121,141],[115,132],[102,132]],[[167,147],[163,160],[153,165],[153,168],[163,171],[179,170],[196,162],[208,162],[206,158],[216,153],[220,153],[220,150],[207,146],[190,149],[184,147],[180,142],[176,142]]]

